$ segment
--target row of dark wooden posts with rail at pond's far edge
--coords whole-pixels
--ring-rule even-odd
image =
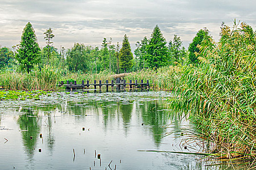
[[[128,85],[130,89],[133,87],[138,88],[138,86],[141,89],[143,89],[143,87],[150,88],[148,80],[146,83],[143,83],[143,80],[141,80],[140,83],[138,83],[138,80],[136,80],[134,83],[132,82],[132,80],[130,80],[129,83],[126,83],[126,80],[123,80],[123,82],[120,82],[120,79],[118,79],[116,82],[114,82],[114,80],[111,80],[111,83],[109,83],[108,80],[106,80],[106,83],[102,83],[101,80],[99,80],[97,83],[97,81],[95,80],[93,84],[90,84],[89,80],[86,81],[86,84],[84,84],[84,81],[82,81],[82,84],[77,84],[77,81],[74,81],[74,84],[73,82],[69,82],[69,81],[67,81],[67,84],[64,84],[63,81],[59,82],[59,86],[65,86],[67,89],[70,89],[70,90],[78,89],[78,88],[81,88],[81,89],[89,88],[90,85],[93,85],[94,89],[97,89],[97,86],[99,86],[99,89],[102,89],[102,86],[105,85],[107,91],[109,86],[111,86],[111,88],[113,89],[115,85],[119,90],[121,86],[122,88],[126,88],[126,85]]]

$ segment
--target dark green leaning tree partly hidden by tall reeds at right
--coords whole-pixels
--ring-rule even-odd
[[[189,60],[192,63],[197,63],[197,53],[199,53],[200,49],[197,48],[197,45],[201,45],[204,40],[204,45],[207,45],[210,43],[209,38],[209,31],[204,28],[204,30],[199,30],[196,34],[196,36],[193,38],[192,43],[189,44],[188,51],[189,51]]]

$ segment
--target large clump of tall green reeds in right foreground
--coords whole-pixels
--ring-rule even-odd
[[[170,109],[195,122],[221,159],[256,159],[256,34],[223,26],[219,43],[199,47],[199,63],[174,77]],[[181,114],[180,114],[181,115]]]

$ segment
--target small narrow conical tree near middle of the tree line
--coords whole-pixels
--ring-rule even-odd
[[[128,36],[126,34],[123,37],[123,44],[120,50],[119,58],[120,68],[122,68],[124,72],[126,72],[127,69],[133,67],[133,53],[131,51],[131,46],[128,40]]]

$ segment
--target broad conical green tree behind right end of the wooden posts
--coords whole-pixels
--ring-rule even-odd
[[[150,68],[159,68],[168,64],[166,43],[161,30],[156,25],[147,46],[146,62]]]

